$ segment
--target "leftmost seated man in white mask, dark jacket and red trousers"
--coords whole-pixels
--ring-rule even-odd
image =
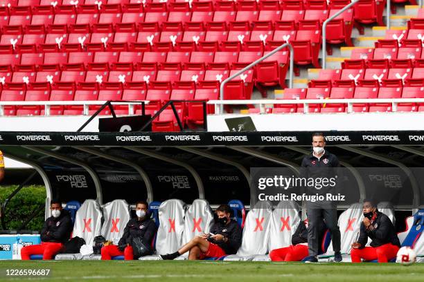
[[[53,259],[55,254],[62,251],[64,243],[69,240],[72,232],[71,215],[62,209],[59,200],[50,203],[51,217],[46,219],[40,237],[41,245],[29,245],[22,247],[21,257],[23,260],[30,259],[31,254],[42,254],[43,259]]]

